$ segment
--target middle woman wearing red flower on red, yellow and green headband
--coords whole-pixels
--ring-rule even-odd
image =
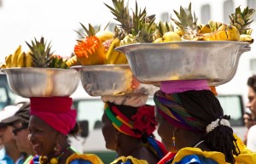
[[[147,95],[102,96],[106,148],[118,154],[112,164],[156,164],[166,155],[164,146],[154,139],[154,106],[145,105],[147,99]]]

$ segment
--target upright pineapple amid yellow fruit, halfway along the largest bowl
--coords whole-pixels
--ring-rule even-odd
[[[180,7],[179,13],[176,10],[173,10],[177,16],[178,20],[175,20],[171,17],[171,20],[179,27],[183,32],[183,38],[185,40],[192,40],[197,35],[197,18],[192,15],[191,12],[191,3],[189,3],[189,13],[187,14],[183,7]]]

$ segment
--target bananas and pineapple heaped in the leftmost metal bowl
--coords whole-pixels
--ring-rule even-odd
[[[60,55],[53,54],[50,50],[50,43],[44,42],[44,37],[40,41],[36,38],[31,44],[26,42],[29,47],[27,53],[21,51],[21,46],[16,48],[14,54],[5,57],[5,64],[1,68],[12,67],[39,67],[39,68],[68,68],[69,65],[76,65],[75,58],[65,59]]]

